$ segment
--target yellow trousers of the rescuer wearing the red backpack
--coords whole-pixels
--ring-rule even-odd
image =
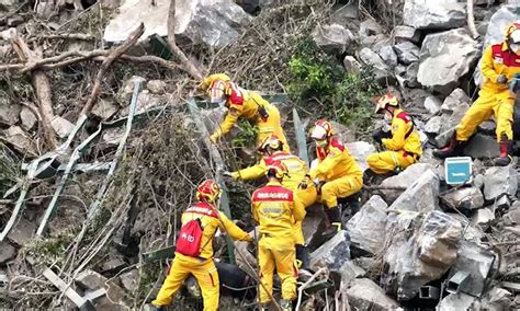
[[[173,295],[179,290],[182,283],[193,275],[199,283],[204,299],[204,311],[217,310],[219,298],[218,273],[213,258],[200,260],[176,253],[176,257],[170,267],[154,306],[169,306]]]

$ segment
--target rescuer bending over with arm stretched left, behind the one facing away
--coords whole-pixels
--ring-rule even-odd
[[[259,163],[236,172],[225,172],[235,181],[251,181],[265,176],[268,168],[274,162],[281,162],[287,169],[287,175],[282,180],[282,185],[294,192],[305,208],[312,206],[317,199],[316,186],[310,184],[305,189],[299,188],[299,182],[308,173],[307,164],[297,156],[283,151],[283,142],[274,135],[265,137],[260,143],[258,151],[262,154]],[[305,246],[305,238],[302,232],[302,221],[295,224],[296,258],[298,262],[299,276],[309,277],[309,254]]]

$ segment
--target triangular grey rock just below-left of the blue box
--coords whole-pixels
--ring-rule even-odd
[[[430,170],[409,186],[391,206],[389,209],[428,212],[439,208],[439,177]]]

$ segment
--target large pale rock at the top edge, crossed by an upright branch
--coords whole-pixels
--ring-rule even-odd
[[[140,41],[154,34],[167,36],[170,1],[151,3],[126,0],[106,26],[103,39],[123,42],[139,22],[145,23]],[[177,1],[176,8],[176,37],[192,44],[223,47],[237,39],[240,35],[238,27],[250,21],[251,16],[233,0],[181,0]]]

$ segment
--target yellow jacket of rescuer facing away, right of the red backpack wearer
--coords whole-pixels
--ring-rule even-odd
[[[251,211],[260,233],[292,240],[296,221],[305,218],[303,204],[278,182],[269,182],[252,194]]]

